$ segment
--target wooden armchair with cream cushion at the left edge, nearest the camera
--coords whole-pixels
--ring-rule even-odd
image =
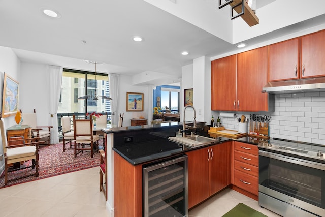
[[[40,138],[25,138],[25,139],[15,139],[7,141],[6,135],[6,127],[5,127],[5,120],[2,118],[0,114],[0,131],[1,131],[1,139],[2,139],[2,146],[5,158],[5,185],[8,184],[9,181],[15,181],[17,179],[26,178],[29,176],[35,175],[36,177],[39,176],[39,144],[43,144],[44,141],[38,142],[30,142],[35,141]],[[11,145],[10,143],[14,143]],[[17,144],[18,143],[18,144]],[[20,143],[20,144],[19,144]],[[32,161],[32,165],[28,167],[20,167],[19,168],[12,168],[10,164],[19,163],[24,161]],[[8,172],[13,172],[17,170],[35,168],[35,173],[23,175],[17,178],[13,178],[8,180]],[[26,174],[26,173],[22,173]]]

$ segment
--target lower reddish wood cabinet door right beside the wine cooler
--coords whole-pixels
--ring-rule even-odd
[[[189,151],[188,156],[188,208],[209,197],[208,148]]]

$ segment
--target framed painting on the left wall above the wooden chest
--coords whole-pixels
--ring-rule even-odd
[[[2,116],[16,115],[18,111],[19,83],[7,73],[4,77],[4,89],[2,97]]]

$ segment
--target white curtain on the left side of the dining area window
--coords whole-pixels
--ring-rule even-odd
[[[62,83],[62,67],[47,66],[46,68],[46,84],[48,87],[49,97],[48,110],[49,110],[49,124],[51,128],[51,141],[50,144],[59,143],[59,132],[57,126],[57,109],[59,106],[61,83]]]

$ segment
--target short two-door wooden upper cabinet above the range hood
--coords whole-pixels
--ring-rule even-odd
[[[268,81],[325,76],[325,30],[268,46]]]

